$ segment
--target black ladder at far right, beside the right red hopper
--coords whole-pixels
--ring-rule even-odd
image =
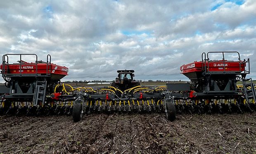
[[[251,78],[242,79],[242,84],[244,88],[244,96],[247,102],[249,99],[253,99],[254,103],[256,102],[256,90],[255,85],[252,82]]]

